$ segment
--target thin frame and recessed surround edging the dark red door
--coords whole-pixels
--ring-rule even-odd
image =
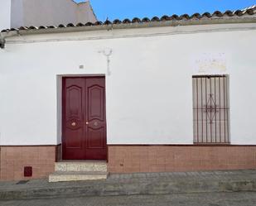
[[[106,75],[105,74],[57,74],[56,75],[56,88],[57,88],[57,127],[56,127],[56,133],[57,133],[57,146],[56,146],[56,161],[63,160],[62,158],[62,142],[63,142],[63,79],[64,78],[89,78],[89,77],[104,77],[105,79],[105,122],[106,122],[106,162],[109,162],[109,147],[108,147],[108,136],[107,136],[107,84],[106,84]]]

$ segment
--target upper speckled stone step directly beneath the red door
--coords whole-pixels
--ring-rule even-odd
[[[81,162],[70,162],[61,161],[56,162],[56,171],[84,171],[84,172],[107,172],[107,163],[104,161],[81,161]]]

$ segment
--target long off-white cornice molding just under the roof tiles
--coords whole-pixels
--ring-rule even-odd
[[[70,31],[69,33],[42,33],[37,35],[23,35],[22,32],[12,31],[6,36],[7,44],[38,43],[54,41],[93,41],[104,39],[137,38],[150,36],[170,36],[182,34],[198,34],[220,31],[255,31],[256,23],[247,24],[215,24],[195,26],[162,26],[131,29],[113,29],[101,31]]]

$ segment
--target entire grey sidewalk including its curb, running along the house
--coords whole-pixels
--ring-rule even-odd
[[[0,182],[0,199],[220,191],[256,191],[256,170],[123,174],[109,175],[107,180],[60,183]]]

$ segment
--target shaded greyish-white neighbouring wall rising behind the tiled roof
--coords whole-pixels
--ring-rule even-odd
[[[0,17],[9,17],[8,24],[2,25],[2,29],[97,21],[89,1],[76,3],[73,0],[5,0],[1,4],[3,7],[1,5],[0,12],[4,12],[0,13]],[[5,8],[7,6],[8,13]]]

